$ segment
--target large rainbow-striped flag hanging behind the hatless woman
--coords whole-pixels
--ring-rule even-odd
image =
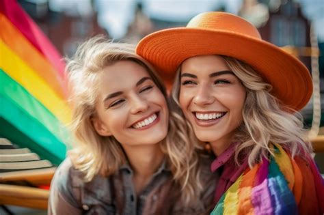
[[[0,1],[0,137],[59,164],[66,156],[64,61],[14,0]]]

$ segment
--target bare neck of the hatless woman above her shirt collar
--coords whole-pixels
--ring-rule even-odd
[[[161,166],[163,152],[159,144],[124,147],[134,171],[133,182],[137,195],[148,185],[150,177]]]

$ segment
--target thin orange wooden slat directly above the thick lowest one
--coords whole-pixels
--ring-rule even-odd
[[[50,184],[56,167],[46,169],[31,169],[0,173],[0,182],[27,181],[30,184]]]

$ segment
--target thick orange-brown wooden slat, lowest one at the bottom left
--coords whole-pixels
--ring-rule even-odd
[[[46,210],[48,199],[49,190],[0,184],[0,205],[17,205]]]

